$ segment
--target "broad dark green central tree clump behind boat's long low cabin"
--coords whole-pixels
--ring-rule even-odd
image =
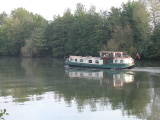
[[[101,34],[102,17],[93,8],[85,12],[81,4],[77,6],[75,14],[67,11],[48,26],[46,36],[54,57],[70,54],[95,56],[101,49],[105,39],[105,34]]]

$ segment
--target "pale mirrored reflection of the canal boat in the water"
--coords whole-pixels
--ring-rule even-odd
[[[134,81],[134,72],[127,70],[92,70],[92,69],[66,69],[66,75],[72,79],[99,80],[101,85],[123,87]]]

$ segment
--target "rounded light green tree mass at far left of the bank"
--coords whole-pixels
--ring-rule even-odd
[[[0,27],[0,55],[25,56],[22,48],[28,45],[26,40],[32,37],[35,29],[43,28],[44,31],[47,25],[44,18],[23,8],[15,9],[9,17],[3,15],[0,19],[3,20]]]

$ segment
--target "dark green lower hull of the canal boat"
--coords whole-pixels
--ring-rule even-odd
[[[100,68],[100,69],[129,69],[133,68],[134,64],[87,64],[87,63],[76,63],[76,62],[65,62],[70,67],[87,67],[87,68]]]

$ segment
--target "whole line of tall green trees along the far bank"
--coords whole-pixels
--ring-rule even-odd
[[[156,6],[155,6],[156,5]],[[126,51],[160,59],[160,2],[141,0],[96,12],[78,3],[47,21],[23,8],[0,14],[0,55],[97,56],[100,50]]]

